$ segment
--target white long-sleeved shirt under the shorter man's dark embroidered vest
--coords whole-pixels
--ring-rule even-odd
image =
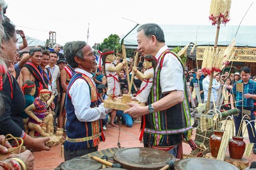
[[[80,68],[75,68],[76,72],[87,75],[93,82],[92,74]],[[69,89],[72,104],[75,108],[75,114],[81,122],[92,122],[101,118],[106,118],[106,108],[103,106],[91,108],[90,90],[87,82],[81,78],[76,79]],[[68,118],[68,117],[67,117]]]

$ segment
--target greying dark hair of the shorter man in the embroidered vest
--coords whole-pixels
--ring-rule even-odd
[[[71,67],[78,67],[78,63],[75,62],[75,56],[83,60],[82,49],[84,46],[86,46],[85,41],[71,41],[64,45],[64,57]]]

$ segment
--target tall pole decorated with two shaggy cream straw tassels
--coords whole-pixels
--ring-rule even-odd
[[[212,25],[215,26],[217,24],[216,37],[214,47],[208,47],[204,52],[204,60],[202,63],[202,71],[208,74],[211,74],[207,103],[206,103],[206,111],[209,111],[210,101],[211,101],[211,93],[212,93],[212,80],[213,73],[220,72],[223,67],[223,61],[229,58],[230,46],[226,49],[218,48],[218,38],[219,38],[219,30],[220,23],[226,24],[229,22],[229,10],[231,6],[231,0],[212,0],[210,6],[210,16],[209,19],[212,21]],[[226,59],[225,59],[226,57]],[[226,63],[225,63],[226,64]]]

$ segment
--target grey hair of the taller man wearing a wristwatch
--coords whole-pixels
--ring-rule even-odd
[[[144,30],[144,34],[146,37],[151,37],[152,35],[156,36],[157,41],[164,41],[164,33],[161,27],[154,23],[143,24],[137,29],[137,32]]]

